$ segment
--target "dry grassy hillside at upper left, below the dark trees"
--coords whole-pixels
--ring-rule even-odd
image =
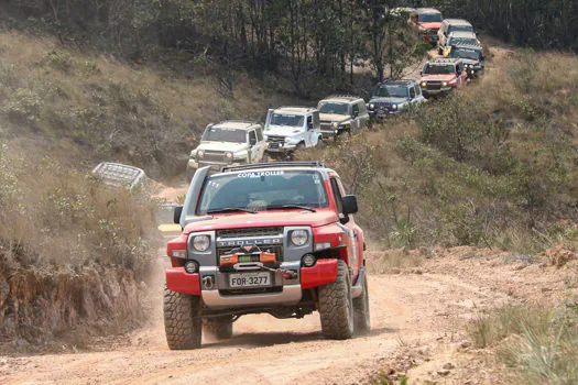
[[[229,75],[228,75],[229,76]],[[170,178],[205,127],[255,120],[268,107],[298,103],[280,79],[230,75],[203,58],[167,53],[164,62],[121,63],[63,47],[55,38],[0,30],[0,124],[6,135],[80,148],[86,163],[117,161]],[[0,131],[0,134],[2,131]]]

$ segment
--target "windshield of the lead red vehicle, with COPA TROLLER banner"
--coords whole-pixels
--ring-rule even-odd
[[[233,208],[260,211],[287,205],[327,207],[321,175],[317,172],[276,169],[209,176],[203,189],[198,215]]]

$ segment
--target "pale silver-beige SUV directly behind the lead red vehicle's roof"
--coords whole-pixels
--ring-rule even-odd
[[[225,166],[261,163],[265,147],[261,124],[235,120],[209,124],[190,152],[187,176],[190,179],[197,168],[205,166],[220,170]]]

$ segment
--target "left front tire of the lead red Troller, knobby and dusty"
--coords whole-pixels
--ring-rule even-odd
[[[200,348],[203,333],[199,297],[172,292],[164,288],[164,329],[171,350]]]

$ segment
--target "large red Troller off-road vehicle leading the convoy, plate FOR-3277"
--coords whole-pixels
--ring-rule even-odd
[[[323,333],[370,328],[363,231],[355,196],[312,162],[196,172],[168,242],[164,321],[171,349],[200,346],[203,327],[232,336],[240,316],[302,318],[318,310]]]

